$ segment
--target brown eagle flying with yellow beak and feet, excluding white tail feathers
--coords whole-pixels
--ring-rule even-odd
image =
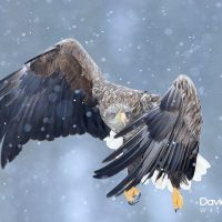
[[[102,77],[73,39],[58,42],[0,81],[2,168],[29,140],[83,133],[103,140],[118,133],[123,144],[119,140],[121,147],[104,160],[112,162],[94,176],[127,168],[128,176],[108,195],[124,192],[129,203],[140,193],[134,186],[155,175],[155,181],[169,178],[179,196],[174,208],[181,208],[178,190],[194,175],[201,123],[200,101],[188,77],[180,75],[162,98],[118,85]]]

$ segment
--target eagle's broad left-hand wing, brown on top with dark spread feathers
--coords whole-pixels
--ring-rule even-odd
[[[90,133],[103,139],[110,129],[93,97],[101,72],[75,40],[63,40],[0,81],[2,168],[32,140]]]

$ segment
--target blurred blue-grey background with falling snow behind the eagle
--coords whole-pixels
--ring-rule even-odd
[[[141,186],[141,201],[105,193],[124,174],[92,178],[111,151],[89,135],[29,142],[0,170],[0,222],[221,221],[222,2],[215,0],[6,0],[0,2],[0,77],[64,38],[77,38],[110,81],[163,93],[180,73],[202,102],[200,152],[212,168],[174,213],[171,193]]]

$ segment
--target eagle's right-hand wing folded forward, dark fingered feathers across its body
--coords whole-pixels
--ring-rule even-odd
[[[140,127],[141,130],[104,161],[112,161],[95,171],[94,178],[107,178],[129,167],[138,157],[141,162],[108,196],[121,194],[139,184],[144,175],[172,178],[175,172],[191,180],[195,170],[201,131],[201,107],[193,82],[180,75],[154,109],[127,127],[117,137]],[[180,181],[179,181],[180,182]]]

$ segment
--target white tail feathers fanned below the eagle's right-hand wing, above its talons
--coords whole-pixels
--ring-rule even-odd
[[[209,169],[210,167],[211,167],[210,163],[202,155],[198,154],[195,172],[194,172],[192,180],[193,181],[201,181],[202,175],[206,174],[206,169]],[[151,178],[153,185],[157,189],[160,189],[160,190],[168,188],[168,190],[170,192],[172,192],[173,188],[172,188],[170,180],[168,179],[168,175],[167,174],[162,175],[161,178],[159,178],[157,180],[158,174],[159,174],[159,171],[154,171],[154,173]],[[148,175],[143,176],[142,181],[141,181],[145,185],[149,183],[149,179],[147,179],[147,178],[148,178]],[[180,185],[181,185],[181,189],[183,189],[183,190],[190,190],[191,189],[191,181],[186,180],[186,183],[182,182]]]

